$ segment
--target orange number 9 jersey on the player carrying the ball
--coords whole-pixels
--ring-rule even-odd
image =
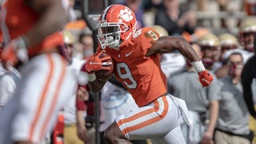
[[[106,47],[106,52],[114,61],[116,78],[129,90],[138,106],[146,106],[167,91],[159,55],[145,57],[158,38],[159,34],[153,28],[146,27],[122,42],[120,50]]]

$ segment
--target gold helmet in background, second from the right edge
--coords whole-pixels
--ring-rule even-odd
[[[220,34],[218,39],[221,46],[239,46],[238,38],[236,38],[233,34]]]

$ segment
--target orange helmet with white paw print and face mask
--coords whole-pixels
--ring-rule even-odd
[[[121,42],[125,42],[136,31],[136,24],[135,14],[128,7],[118,4],[108,6],[97,25],[97,37],[102,49],[108,46],[118,50]]]

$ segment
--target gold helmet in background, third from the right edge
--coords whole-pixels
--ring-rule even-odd
[[[212,33],[208,33],[203,35],[201,38],[198,39],[199,46],[219,46],[219,40],[216,35]]]

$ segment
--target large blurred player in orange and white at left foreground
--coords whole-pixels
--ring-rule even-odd
[[[62,1],[8,0],[1,14],[2,64],[10,70],[19,63],[22,79],[0,113],[0,143],[40,143],[76,86],[62,47],[66,8]]]

